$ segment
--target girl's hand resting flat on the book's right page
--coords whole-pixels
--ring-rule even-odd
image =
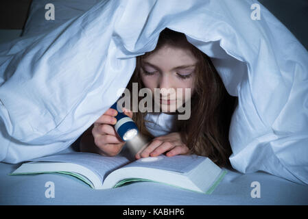
[[[137,152],[136,159],[149,156],[156,157],[166,151],[168,151],[167,157],[189,153],[188,147],[182,142],[181,135],[180,132],[173,132],[154,138],[146,147]]]

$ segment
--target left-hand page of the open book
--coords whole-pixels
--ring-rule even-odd
[[[79,164],[92,170],[102,181],[117,168],[128,164],[126,157],[105,157],[95,153],[73,152],[32,159],[33,162],[63,162]]]

